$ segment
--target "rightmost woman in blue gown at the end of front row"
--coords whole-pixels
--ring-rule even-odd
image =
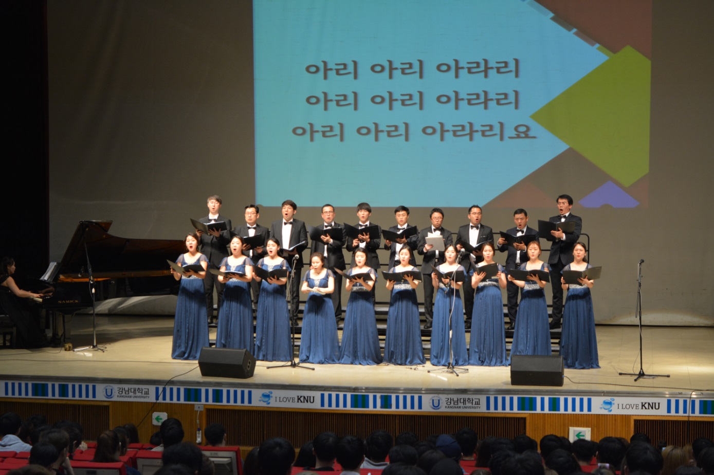
[[[584,271],[592,266],[588,264],[585,244],[578,242],[573,248],[573,262],[565,266],[564,271]],[[560,355],[565,368],[593,369],[600,367],[598,359],[598,340],[595,337],[595,314],[590,289],[595,281],[578,279],[580,284],[565,284],[561,277],[563,290],[568,291],[563,309],[563,336],[560,338]]]

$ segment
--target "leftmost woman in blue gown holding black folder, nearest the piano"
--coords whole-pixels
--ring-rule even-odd
[[[198,359],[203,346],[208,346],[208,320],[206,319],[206,294],[203,279],[206,278],[208,259],[198,252],[196,233],[186,235],[186,253],[176,259],[176,264],[200,264],[203,271],[177,272],[171,268],[174,279],[180,280],[176,316],[174,318],[173,359]]]

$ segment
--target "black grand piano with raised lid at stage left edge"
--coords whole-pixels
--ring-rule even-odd
[[[53,319],[53,334],[62,344],[71,341],[71,319],[66,316],[93,306],[90,266],[97,301],[114,296],[175,294],[178,289],[166,259],[174,261],[186,251],[183,241],[114,236],[109,234],[112,222],[79,221],[62,260],[51,262],[40,278],[49,286],[42,306],[61,315],[61,319]]]

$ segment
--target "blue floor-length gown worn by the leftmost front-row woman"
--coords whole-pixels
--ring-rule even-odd
[[[208,262],[208,259],[203,254],[198,254],[198,258],[193,262],[186,262],[183,254],[176,259],[176,264],[180,266],[199,262]],[[208,319],[206,319],[203,279],[196,276],[181,276],[178,299],[176,299],[171,358],[198,359],[203,346],[208,346]]]

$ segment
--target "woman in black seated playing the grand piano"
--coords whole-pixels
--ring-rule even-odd
[[[20,289],[12,274],[15,273],[15,259],[4,257],[0,267],[0,307],[4,314],[7,314],[17,327],[18,348],[41,348],[48,346],[47,335],[40,327],[40,308],[29,302],[27,299],[41,298],[40,294],[34,294]]]

